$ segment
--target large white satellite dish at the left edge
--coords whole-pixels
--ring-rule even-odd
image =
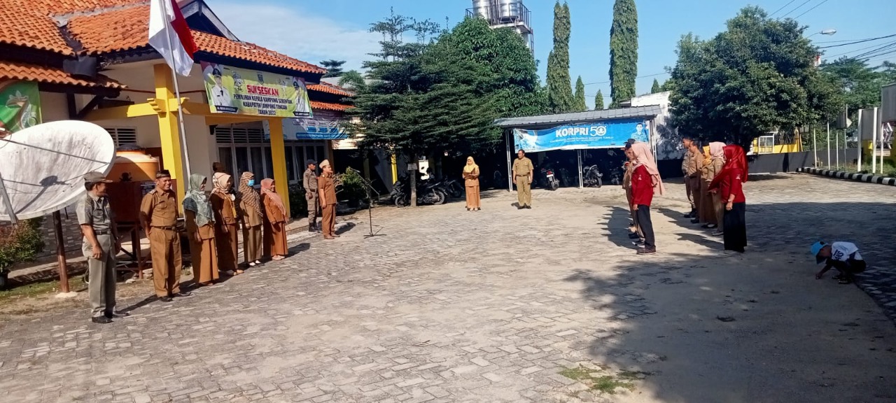
[[[64,120],[5,134],[0,139],[0,176],[16,219],[69,206],[86,192],[82,176],[108,174],[115,159],[112,137],[90,122]],[[0,219],[11,220],[5,202],[0,202]]]

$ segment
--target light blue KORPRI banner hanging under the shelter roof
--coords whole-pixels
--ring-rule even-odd
[[[620,148],[629,139],[649,141],[650,131],[642,119],[570,124],[542,130],[513,129],[515,150],[528,152]]]

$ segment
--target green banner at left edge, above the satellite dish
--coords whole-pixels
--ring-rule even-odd
[[[0,82],[0,128],[18,132],[40,124],[40,91],[35,81]]]

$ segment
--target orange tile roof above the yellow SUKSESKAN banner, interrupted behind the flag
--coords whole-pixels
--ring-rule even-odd
[[[150,6],[122,8],[106,13],[74,17],[68,23],[73,37],[93,55],[149,46]],[[259,64],[305,73],[326,73],[323,67],[306,63],[248,42],[237,42],[193,31],[196,47],[217,56],[234,57]]]

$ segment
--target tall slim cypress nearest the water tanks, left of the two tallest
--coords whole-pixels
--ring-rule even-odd
[[[569,35],[572,26],[569,6],[554,5],[554,49],[547,56],[547,102],[555,113],[575,108],[572,80],[569,76]]]

